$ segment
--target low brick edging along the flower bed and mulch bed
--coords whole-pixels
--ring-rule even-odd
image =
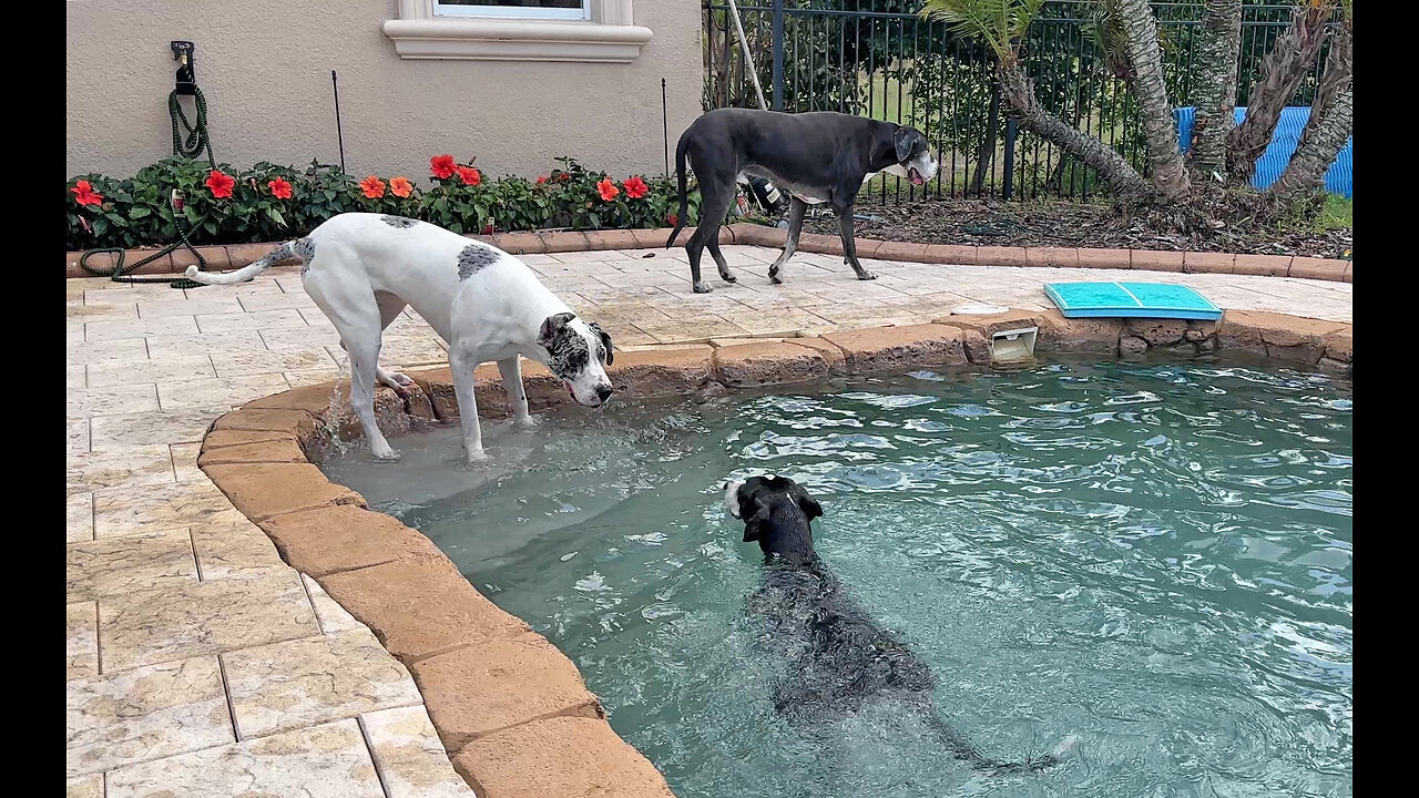
[[[681,231],[677,243],[690,237],[690,230]],[[492,236],[468,236],[487,241],[512,254],[570,253],[587,250],[647,250],[663,248],[670,239],[670,227],[656,230],[545,230],[538,233],[495,233]],[[783,247],[786,230],[762,224],[729,224],[719,227],[721,244],[755,244],[761,247]],[[1300,257],[1300,256],[1250,256],[1232,253],[1175,253],[1161,250],[1094,250],[1067,247],[976,247],[952,244],[907,244],[900,241],[878,241],[857,239],[858,257],[878,260],[910,260],[918,263],[951,263],[969,266],[1057,266],[1078,268],[1138,268],[1149,271],[1181,271],[1189,274],[1260,274],[1269,277],[1303,277],[1305,280],[1330,280],[1332,283],[1354,283],[1354,263],[1348,260]],[[207,268],[224,271],[241,268],[274,250],[271,244],[230,244],[224,247],[197,247],[207,260]],[[799,237],[799,251],[843,254],[843,241],[837,236],[803,233]],[[138,263],[156,250],[128,250],[125,263]],[[82,253],[65,254],[67,277],[92,277],[79,268]],[[184,271],[197,260],[187,250],[177,250],[166,257],[143,266],[133,274],[175,274]],[[114,267],[109,254],[95,254],[89,266],[99,270]]]

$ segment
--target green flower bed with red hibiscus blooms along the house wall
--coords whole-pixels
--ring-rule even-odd
[[[561,168],[536,180],[511,175],[487,180],[473,159],[458,163],[437,155],[429,160],[433,185],[423,190],[404,175],[356,179],[315,160],[301,172],[265,162],[247,170],[226,163],[213,169],[169,158],[123,180],[104,175],[68,180],[65,248],[167,244],[177,239],[179,214],[193,244],[284,241],[353,210],[409,216],[455,233],[675,224],[674,179],[631,175],[616,182],[572,158],[558,162]],[[691,192],[690,223],[698,209],[700,195]]]

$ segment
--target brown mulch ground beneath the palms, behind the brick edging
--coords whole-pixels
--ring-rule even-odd
[[[809,213],[813,213],[812,209]],[[856,213],[876,217],[857,220],[858,237],[920,244],[1191,250],[1338,258],[1345,257],[1354,243],[1354,229],[1283,229],[1274,222],[1246,219],[1222,222],[1213,217],[1196,224],[1199,231],[1165,233],[1141,213],[1124,214],[1108,206],[1064,202],[955,199],[887,206],[858,203]],[[810,216],[803,230],[836,236],[837,219],[832,212]]]

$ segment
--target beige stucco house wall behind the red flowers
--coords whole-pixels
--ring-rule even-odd
[[[630,64],[400,60],[380,31],[396,0],[70,0],[65,14],[67,177],[172,153],[172,40],[196,43],[213,151],[238,168],[339,163],[331,70],[356,175],[421,179],[443,152],[491,175],[545,175],[558,155],[658,175],[660,80],[671,146],[700,114],[698,0],[636,0],[654,37]]]

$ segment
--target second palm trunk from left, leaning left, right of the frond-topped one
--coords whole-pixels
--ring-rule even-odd
[[[1134,67],[1132,88],[1144,116],[1154,189],[1165,202],[1174,202],[1186,196],[1192,186],[1178,149],[1178,126],[1162,80],[1158,20],[1148,0],[1117,0],[1115,10],[1124,28],[1128,61]]]

